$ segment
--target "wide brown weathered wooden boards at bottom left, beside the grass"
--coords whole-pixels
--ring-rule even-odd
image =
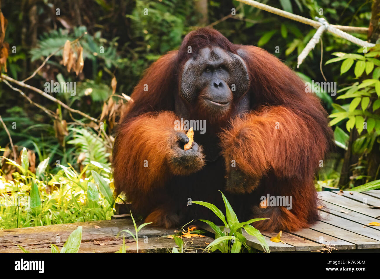
[[[139,225],[139,224],[137,224]],[[79,252],[116,252],[119,250],[123,234],[129,252],[136,251],[135,241],[128,233],[122,232],[123,229],[135,231],[131,219],[104,220],[94,222],[81,222],[73,224],[59,224],[41,227],[27,227],[20,229],[0,230],[0,253],[1,252],[20,252],[16,244],[26,247],[27,250],[47,252],[50,251],[51,244],[62,247],[70,233],[78,226],[82,226],[82,244]],[[120,233],[119,237],[116,237]],[[139,232],[139,249],[145,252],[169,251],[175,246],[173,239],[162,237],[174,234],[174,229],[164,229],[153,226],[146,226]],[[147,243],[144,243],[144,240]],[[206,243],[213,241],[212,238],[190,238],[184,239],[186,243],[193,241],[196,247],[204,248]],[[41,250],[42,249],[42,250]]]

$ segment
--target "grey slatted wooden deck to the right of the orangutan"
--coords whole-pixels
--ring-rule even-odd
[[[320,219],[310,228],[298,232],[283,232],[281,240],[270,240],[278,232],[261,232],[271,252],[318,251],[333,246],[332,252],[380,252],[380,190],[363,193],[344,191],[318,192],[323,204]],[[254,225],[254,224],[253,224]],[[204,227],[204,229],[211,230]],[[263,251],[257,239],[245,234],[250,245]]]

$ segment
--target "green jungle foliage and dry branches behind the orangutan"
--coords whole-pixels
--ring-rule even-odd
[[[330,24],[370,27],[352,35],[379,43],[379,0],[259,2]],[[111,218],[115,202],[125,199],[112,194],[111,170],[122,109],[144,69],[199,26],[268,50],[305,82],[324,82],[323,76],[336,82],[336,96],[316,92],[335,134],[316,188],[380,187],[379,45],[364,52],[325,33],[296,69],[316,30],[237,1],[2,0],[0,8],[0,66],[7,77],[0,82],[0,196],[31,198],[30,209],[0,206],[0,229]],[[75,82],[76,95],[46,93],[51,80]]]

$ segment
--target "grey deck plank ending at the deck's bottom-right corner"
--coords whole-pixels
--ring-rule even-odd
[[[356,249],[380,248],[380,241],[358,235],[357,233],[341,229],[325,222],[316,222],[310,229],[353,243],[356,245]]]

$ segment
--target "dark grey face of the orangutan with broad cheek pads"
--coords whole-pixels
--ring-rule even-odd
[[[236,54],[219,47],[204,48],[184,66],[181,97],[196,106],[202,116],[221,120],[249,88],[247,67]]]

